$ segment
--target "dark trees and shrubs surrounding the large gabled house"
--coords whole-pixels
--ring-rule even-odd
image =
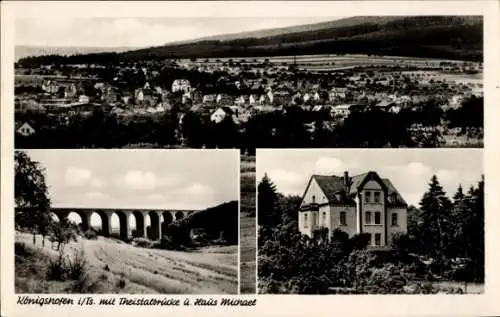
[[[366,249],[364,234],[301,235],[300,197],[279,194],[267,176],[257,203],[261,293],[436,293],[435,281],[484,281],[483,180],[449,199],[433,176],[420,207],[410,207],[408,233],[380,253]]]

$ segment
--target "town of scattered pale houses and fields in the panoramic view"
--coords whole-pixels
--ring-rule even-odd
[[[76,124],[73,118],[89,117],[98,108],[118,122],[137,118],[154,121],[172,114],[181,145],[186,138],[183,119],[188,114],[198,116],[208,125],[230,121],[235,130],[245,133],[246,125],[256,117],[271,113],[286,116],[291,109],[298,109],[305,133],[314,138],[315,130],[321,129],[316,124],[318,117],[321,127],[333,131],[354,111],[382,111],[397,116],[405,111],[422,112],[425,105],[432,103],[446,113],[471,99],[473,102],[469,103],[482,108],[480,62],[368,56],[346,60],[339,56],[293,56],[193,58],[116,65],[27,67],[18,63],[16,137],[30,137],[41,128],[36,119],[26,114],[43,114],[53,119],[51,124],[64,126]],[[271,136],[280,133],[280,124],[275,124],[276,127],[270,123]],[[463,124],[448,127],[446,118],[430,125],[425,120],[423,124],[412,122],[406,127],[408,131],[434,129],[445,136],[444,141],[430,147],[465,146],[461,142],[481,146],[482,127],[473,127],[472,133],[469,128]]]

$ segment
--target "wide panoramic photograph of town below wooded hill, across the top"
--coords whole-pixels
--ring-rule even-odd
[[[16,148],[483,147],[483,17],[15,20]]]

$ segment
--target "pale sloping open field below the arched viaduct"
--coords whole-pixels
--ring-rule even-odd
[[[27,248],[36,248],[47,258],[57,252],[46,241],[41,248],[41,237],[33,246],[32,235],[16,233],[16,242]],[[65,252],[73,254],[83,249],[90,275],[99,280],[95,293],[129,294],[237,294],[238,247],[211,247],[194,252],[145,249],[98,237],[97,240],[80,239],[69,244]],[[209,256],[207,256],[209,254]],[[21,259],[20,259],[21,260]],[[38,260],[35,260],[37,262]],[[67,282],[34,280],[25,269],[32,266],[18,265],[16,259],[16,292],[64,292]],[[43,269],[40,267],[39,269]],[[116,281],[123,280],[120,288]],[[67,291],[66,291],[67,292]]]

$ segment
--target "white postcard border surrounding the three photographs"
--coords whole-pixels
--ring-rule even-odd
[[[250,315],[259,316],[475,316],[498,315],[500,256],[500,129],[499,116],[499,3],[489,1],[358,1],[358,2],[2,2],[1,81],[1,302],[2,316],[151,316]],[[36,307],[15,306],[13,297],[13,59],[16,17],[285,17],[339,15],[483,15],[485,91],[485,179],[486,179],[486,285],[483,295],[460,296],[262,296],[252,308],[226,307]],[[436,151],[439,151],[436,149]],[[256,159],[257,161],[257,159]],[[257,215],[256,215],[257,217]],[[97,296],[96,296],[97,297]],[[241,296],[248,298],[249,296]],[[253,297],[253,296],[251,296]],[[184,298],[184,297],[182,297]],[[217,298],[213,296],[213,298]]]

